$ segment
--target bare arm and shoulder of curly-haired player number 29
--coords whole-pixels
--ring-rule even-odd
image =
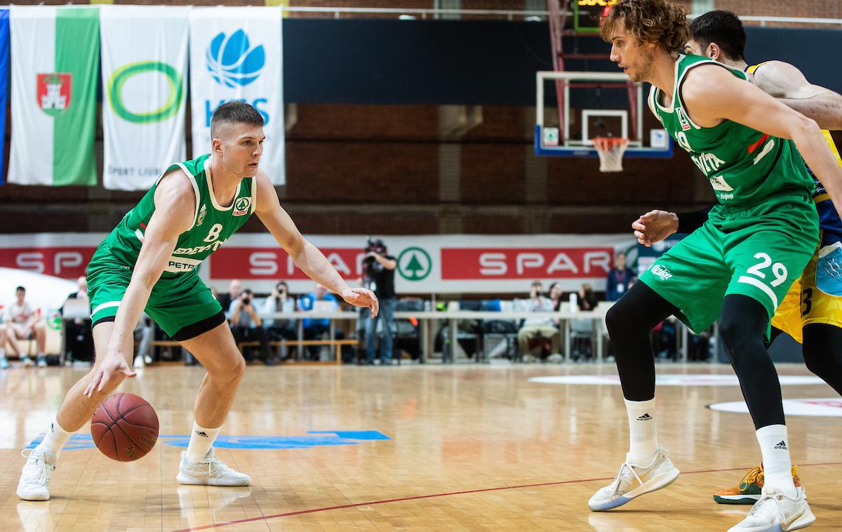
[[[770,136],[792,139],[834,205],[842,205],[842,168],[815,120],[715,65],[690,70],[681,93],[690,119],[702,127],[733,120]]]

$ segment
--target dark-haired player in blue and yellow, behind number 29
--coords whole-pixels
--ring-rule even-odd
[[[753,81],[765,93],[781,99],[788,107],[816,120],[831,150],[838,151],[828,130],[842,129],[842,96],[807,82],[796,67],[783,61],[759,65],[743,59],[743,23],[730,11],[710,11],[693,19],[685,52],[706,56],[754,74]],[[842,164],[842,160],[838,160]],[[804,363],[842,395],[842,278],[835,275],[835,264],[842,255],[842,221],[820,183],[813,192],[819,221],[820,243],[801,278],[792,283],[786,298],[772,318],[772,336],[787,333],[803,344]],[[651,246],[674,232],[689,233],[707,221],[710,209],[691,213],[652,210],[632,223],[638,242]],[[793,482],[801,485],[796,466]],[[721,504],[754,504],[762,495],[763,466],[754,467],[735,487],[716,492]]]

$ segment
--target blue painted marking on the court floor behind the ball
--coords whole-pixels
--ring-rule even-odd
[[[323,436],[237,436],[221,434],[216,438],[214,447],[217,449],[307,449],[333,445],[359,445],[366,441],[391,439],[386,434],[376,430],[310,430],[307,434],[324,434]],[[41,443],[44,434],[33,439],[26,449],[35,449]],[[161,434],[158,439],[172,447],[187,447],[189,434]],[[93,449],[93,438],[90,434],[73,434],[63,450]]]

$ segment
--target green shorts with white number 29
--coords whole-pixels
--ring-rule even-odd
[[[818,216],[807,194],[743,208],[719,205],[640,280],[677,306],[676,316],[695,333],[717,320],[729,294],[758,301],[771,322],[817,244]]]

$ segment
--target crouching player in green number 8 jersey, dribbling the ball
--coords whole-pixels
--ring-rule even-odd
[[[251,105],[222,104],[210,120],[212,152],[179,162],[149,190],[99,245],[88,265],[96,361],[67,392],[45,439],[27,456],[18,496],[50,498],[61,447],[90,421],[96,407],[131,369],[135,325],[146,310],[205,366],[195,423],[181,455],[182,484],[248,486],[248,475],[214,455],[213,443],[231,409],[245,364],[225,313],[196,267],[256,213],[305,274],[354,306],[377,314],[370,290],[350,288],[286,214],[269,178],[258,169],[264,120]],[[26,456],[26,455],[24,455]]]

